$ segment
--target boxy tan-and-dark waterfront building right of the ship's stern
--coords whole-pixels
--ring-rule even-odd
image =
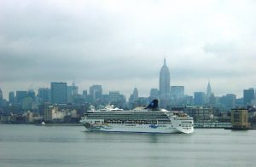
[[[250,125],[248,123],[248,111],[245,109],[232,109],[231,124],[235,129],[247,129]]]

